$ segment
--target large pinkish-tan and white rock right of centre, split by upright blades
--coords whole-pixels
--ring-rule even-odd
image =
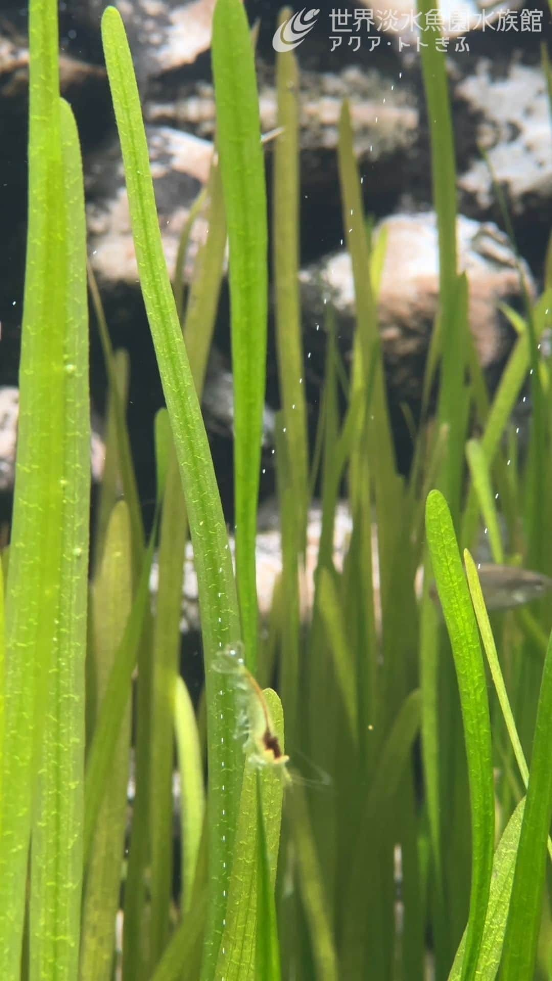
[[[395,215],[376,229],[387,233],[387,250],[378,302],[378,323],[387,378],[395,397],[416,400],[421,393],[423,361],[437,311],[438,250],[435,214]],[[497,309],[499,302],[519,305],[516,258],[506,235],[491,224],[460,216],[459,268],[469,279],[469,324],[483,368],[498,366],[507,355],[513,331]],[[524,265],[529,292],[530,273]],[[324,344],[324,306],[332,303],[344,355],[350,356],[355,332],[355,292],[351,257],[337,252],[300,274],[304,304],[304,347]],[[320,352],[315,357],[318,362]]]

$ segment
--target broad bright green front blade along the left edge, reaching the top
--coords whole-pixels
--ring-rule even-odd
[[[83,376],[82,366],[76,367],[66,357],[72,350],[68,316],[75,314],[76,284],[71,284],[68,305],[70,255],[61,113],[57,4],[33,0],[29,8],[27,275],[6,597],[6,728],[0,804],[3,978],[17,978],[20,973],[31,805],[50,691],[49,670],[58,637],[56,621],[60,601],[69,601],[62,590],[71,581],[72,559],[65,554],[64,538],[68,496],[76,490],[75,474],[70,472],[72,453],[79,452],[79,440],[85,439],[85,433],[78,439],[70,437],[68,418],[68,391],[75,385],[76,372]],[[71,328],[77,328],[75,321]],[[82,504],[85,511],[86,501]],[[82,563],[85,576],[85,552]],[[75,816],[79,821],[78,810]],[[76,871],[74,866],[74,883]],[[38,923],[35,926],[38,930]],[[48,929],[50,926],[48,923]],[[77,936],[72,928],[63,955],[64,972],[68,948]]]

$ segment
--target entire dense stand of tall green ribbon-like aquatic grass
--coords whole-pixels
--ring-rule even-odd
[[[395,462],[377,325],[385,240],[372,240],[366,228],[347,104],[339,176],[357,334],[344,381],[328,312],[318,433],[307,446],[298,70],[293,53],[279,55],[271,193],[283,571],[259,632],[255,532],[269,257],[243,5],[218,0],[214,15],[217,141],[200,200],[209,235],[186,304],[163,256],[125,29],[114,8],[102,20],[140,284],[167,404],[156,419],[148,541],[125,423],[127,362],[111,348],[86,270],[79,138],[59,95],[57,4],[30,0],[29,9],[22,409],[0,590],[0,977],[549,977],[552,618],[546,602],[504,611],[501,601],[491,624],[470,552],[482,526],[495,562],[552,574],[552,380],[540,348],[550,326],[552,265],[542,295],[532,303],[525,290],[524,315],[512,313],[518,338],[491,396],[472,356],[469,284],[457,269],[444,55],[432,46],[422,53],[440,303],[408,479]],[[227,232],[236,578],[199,408]],[[90,564],[87,284],[109,382]],[[510,466],[509,420],[529,373],[529,451]],[[435,385],[436,417],[429,419]],[[470,439],[474,421],[480,436]],[[322,522],[305,623],[300,580],[314,486]],[[338,571],[333,529],[344,492],[352,533]],[[512,547],[506,553],[498,505]],[[179,677],[189,533],[205,668],[196,710]]]

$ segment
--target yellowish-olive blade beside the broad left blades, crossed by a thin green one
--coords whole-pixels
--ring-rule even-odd
[[[132,603],[132,552],[129,508],[116,504],[105,549],[92,587],[94,661],[99,704],[105,696],[118,645]],[[131,745],[131,709],[123,711],[112,747],[104,798],[93,835],[83,903],[80,981],[109,981],[113,967],[115,920],[119,908]]]

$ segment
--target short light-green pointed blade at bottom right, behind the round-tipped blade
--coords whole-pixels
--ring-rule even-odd
[[[525,799],[520,801],[512,814],[494,855],[489,904],[477,961],[477,981],[494,981],[496,978],[514,881],[524,806]],[[466,934],[454,958],[449,981],[460,981],[465,950]]]

